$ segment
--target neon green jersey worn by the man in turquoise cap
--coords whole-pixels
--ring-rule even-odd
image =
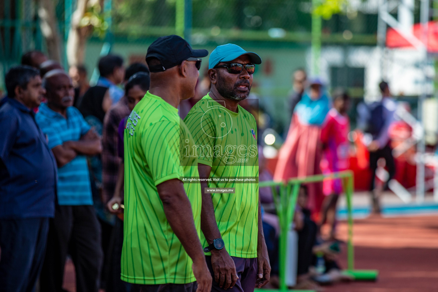
[[[190,110],[184,123],[196,144],[192,155],[196,153],[199,163],[212,166],[213,180],[208,186],[235,188],[235,193],[212,193],[226,250],[233,257],[257,257],[258,149],[254,116],[241,106],[234,113],[206,95]],[[257,183],[230,181],[243,177],[255,178]],[[221,178],[229,181],[215,180]],[[201,244],[208,246],[203,234]]]

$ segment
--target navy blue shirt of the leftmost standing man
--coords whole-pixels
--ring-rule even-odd
[[[0,219],[53,217],[57,165],[32,110],[0,101]]]

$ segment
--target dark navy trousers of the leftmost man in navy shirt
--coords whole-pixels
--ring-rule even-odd
[[[49,218],[0,219],[0,292],[32,292],[46,251]]]

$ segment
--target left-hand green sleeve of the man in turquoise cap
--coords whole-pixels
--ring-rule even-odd
[[[215,147],[215,123],[212,118],[202,112],[194,112],[184,119],[188,130],[190,131],[194,144],[196,145],[196,154],[198,163],[212,166]]]

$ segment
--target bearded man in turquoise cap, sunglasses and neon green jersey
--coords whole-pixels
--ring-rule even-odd
[[[213,291],[251,292],[269,281],[271,267],[258,197],[257,124],[239,106],[247,99],[261,59],[240,46],[218,46],[210,55],[210,92],[184,119],[198,156],[202,192],[201,237]],[[224,188],[225,190],[211,190]]]

